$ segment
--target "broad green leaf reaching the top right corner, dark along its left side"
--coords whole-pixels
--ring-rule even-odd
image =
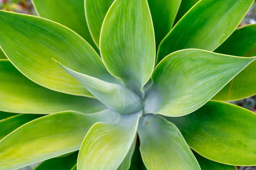
[[[157,62],[172,52],[214,51],[236,29],[254,0],[200,0],[161,42]]]

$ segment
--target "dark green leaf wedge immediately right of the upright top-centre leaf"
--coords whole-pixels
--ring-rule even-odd
[[[181,0],[148,0],[156,39],[156,48],[171,31]]]

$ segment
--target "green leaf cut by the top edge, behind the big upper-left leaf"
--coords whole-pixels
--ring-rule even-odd
[[[86,24],[84,0],[68,0],[65,2],[63,0],[32,0],[32,2],[40,17],[67,26],[81,35],[84,40],[99,52]]]

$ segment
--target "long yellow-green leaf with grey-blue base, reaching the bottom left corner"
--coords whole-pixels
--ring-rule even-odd
[[[113,122],[118,113],[54,113],[35,119],[0,141],[0,169],[15,170],[29,164],[79,150],[96,122]]]

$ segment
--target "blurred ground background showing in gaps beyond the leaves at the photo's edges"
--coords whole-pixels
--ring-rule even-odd
[[[22,14],[37,15],[31,0],[0,0],[0,9]],[[239,26],[245,26],[248,24],[256,24],[256,2],[254,2],[253,6],[250,8],[246,17]],[[256,113],[256,96],[231,103]],[[33,170],[36,166],[37,164],[34,164],[21,168],[20,170]],[[256,170],[256,167],[238,167],[238,170]]]

